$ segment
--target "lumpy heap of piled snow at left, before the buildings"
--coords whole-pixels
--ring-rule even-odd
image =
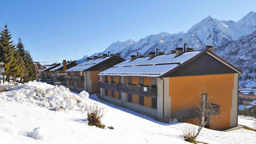
[[[28,82],[12,87],[6,93],[0,94],[2,101],[17,101],[19,103],[33,104],[51,110],[79,110],[84,111],[89,93],[83,91],[74,94],[68,88],[60,85],[53,86],[41,82]]]

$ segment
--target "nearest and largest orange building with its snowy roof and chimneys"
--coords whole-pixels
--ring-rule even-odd
[[[154,52],[115,65],[100,75],[100,95],[105,101],[129,108],[156,119],[177,118],[196,124],[198,105],[207,95],[207,108],[217,109],[210,129],[237,125],[238,75],[242,71],[206,50],[173,54]],[[218,120],[218,121],[215,121]]]

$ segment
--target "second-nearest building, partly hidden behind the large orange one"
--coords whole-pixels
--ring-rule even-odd
[[[124,59],[120,57],[119,53],[109,57],[107,54],[103,54],[102,58],[97,56],[87,58],[87,61],[66,70],[67,86],[70,90],[77,92],[99,93],[98,74],[122,61]]]

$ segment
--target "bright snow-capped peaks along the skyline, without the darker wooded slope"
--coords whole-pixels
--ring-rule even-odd
[[[170,53],[177,47],[183,47],[184,43],[188,43],[189,47],[194,47],[196,50],[204,49],[205,45],[218,47],[253,33],[254,30],[256,30],[256,13],[253,11],[237,22],[217,20],[209,15],[196,23],[186,33],[183,31],[177,34],[162,32],[142,38],[138,42],[132,39],[125,42],[117,41],[100,54],[108,51],[111,53],[121,52],[123,58],[129,59],[130,55],[136,55],[137,52],[140,52],[141,55],[148,55],[149,52],[156,51],[156,48],[162,52]],[[94,53],[93,55],[98,54]]]

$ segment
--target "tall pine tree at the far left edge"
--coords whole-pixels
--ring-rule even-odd
[[[10,76],[12,74],[12,64],[14,62],[14,47],[13,41],[11,41],[11,34],[9,29],[7,28],[7,24],[5,24],[5,29],[2,31],[0,36],[0,59],[4,62],[4,68],[7,80],[9,81]],[[3,75],[3,81],[4,81]]]

